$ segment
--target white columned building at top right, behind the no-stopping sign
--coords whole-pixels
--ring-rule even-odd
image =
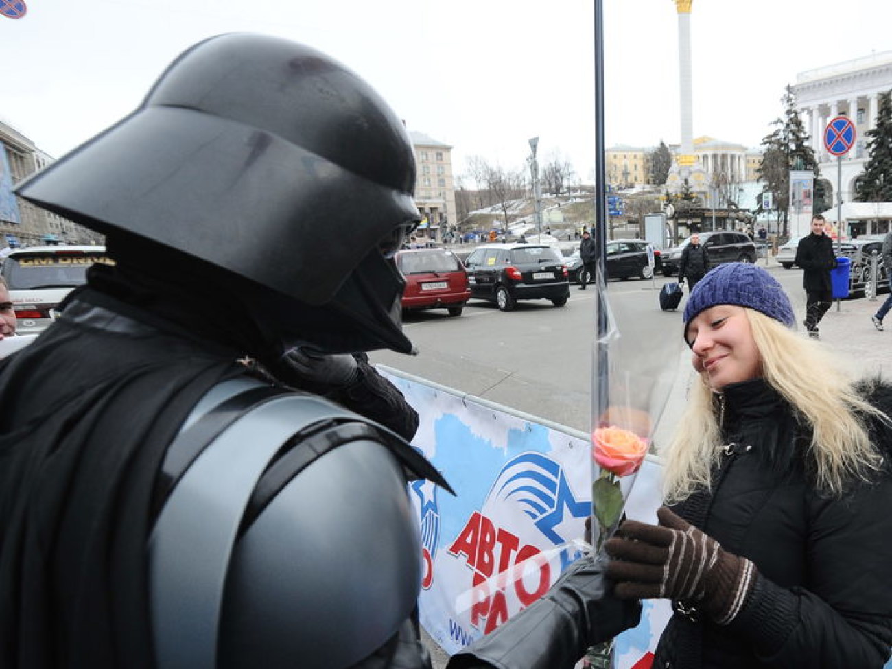
[[[812,148],[833,191],[836,204],[837,158],[824,148],[824,128],[830,119],[847,116],[855,123],[855,146],[840,162],[843,202],[855,197],[855,178],[867,159],[868,130],[876,126],[879,96],[892,88],[892,51],[839,62],[797,75],[797,105],[811,136]]]

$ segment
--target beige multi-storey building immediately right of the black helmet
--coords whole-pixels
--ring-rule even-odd
[[[417,235],[441,242],[450,238],[458,223],[455,208],[455,185],[452,177],[452,147],[413,130],[409,138],[415,149],[417,177],[415,202],[424,220]]]

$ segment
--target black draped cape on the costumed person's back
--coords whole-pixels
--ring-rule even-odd
[[[92,290],[72,304],[139,313]],[[152,667],[155,473],[195,402],[244,368],[145,318],[67,315],[0,363],[0,666]]]

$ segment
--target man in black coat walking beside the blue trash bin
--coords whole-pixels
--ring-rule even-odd
[[[812,232],[799,241],[795,263],[803,268],[802,287],[805,288],[805,329],[813,339],[820,338],[818,323],[833,301],[830,269],[836,267],[833,242],[824,234],[827,220],[820,214],[812,217]]]

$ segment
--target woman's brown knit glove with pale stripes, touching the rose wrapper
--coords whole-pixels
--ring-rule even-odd
[[[700,607],[718,624],[730,624],[756,583],[756,566],[722,549],[718,541],[668,508],[659,525],[627,520],[605,548],[607,578],[619,599],[678,599]]]

